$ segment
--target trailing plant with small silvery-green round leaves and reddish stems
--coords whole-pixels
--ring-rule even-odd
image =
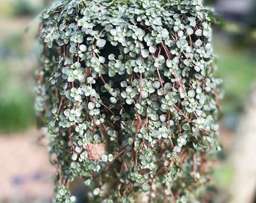
[[[42,12],[36,109],[53,202],[75,201],[75,177],[91,202],[197,199],[218,148],[213,20],[194,0],[62,0]]]

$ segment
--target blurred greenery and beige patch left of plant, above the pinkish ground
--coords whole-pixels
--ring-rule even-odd
[[[26,28],[44,7],[41,0],[0,2],[0,132],[23,131],[35,124],[33,68],[35,36]],[[30,29],[30,28],[29,28]],[[37,29],[37,28],[32,28]],[[31,48],[32,47],[32,48]]]

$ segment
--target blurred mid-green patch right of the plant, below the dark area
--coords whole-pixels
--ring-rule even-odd
[[[256,77],[254,68],[256,59],[249,49],[240,48],[232,44],[230,38],[215,35],[215,51],[218,53],[218,74],[223,76],[225,96],[221,102],[223,114],[239,114],[243,102],[247,99],[251,83]],[[232,116],[233,117],[233,116]],[[235,126],[233,126],[235,127]]]

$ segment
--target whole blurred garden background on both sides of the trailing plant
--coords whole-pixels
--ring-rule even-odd
[[[36,17],[50,2],[0,2],[0,202],[49,202],[53,191],[54,168],[46,144],[38,142],[43,132],[36,129],[33,109]],[[224,80],[223,150],[214,163],[208,202],[256,202],[256,2],[205,0],[204,5],[224,20],[213,35],[218,76]]]

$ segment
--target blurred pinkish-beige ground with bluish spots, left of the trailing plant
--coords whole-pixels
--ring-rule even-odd
[[[49,202],[54,168],[47,147],[38,143],[40,132],[0,136],[0,202]]]

